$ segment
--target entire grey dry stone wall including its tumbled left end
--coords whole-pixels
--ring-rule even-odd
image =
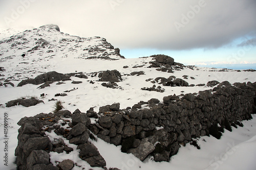
[[[54,131],[69,143],[78,145],[79,157],[91,166],[104,167],[106,164],[88,140],[94,135],[122,145],[122,152],[132,153],[140,160],[151,155],[155,161],[168,161],[177,154],[181,144],[205,135],[220,138],[223,128],[231,131],[231,126],[242,126],[242,120],[256,113],[256,83],[231,85],[222,82],[217,85],[199,93],[165,96],[163,102],[158,99],[141,101],[126,109],[120,109],[120,104],[115,103],[100,107],[98,113],[90,108],[87,113],[78,109],[73,113],[61,110],[55,114],[24,117],[18,122],[21,127],[15,150],[17,169],[73,168],[72,160],[59,162],[58,168],[53,166],[50,152],[70,153],[73,149],[61,137],[51,141],[46,131]],[[90,117],[97,118],[97,122],[91,123]],[[58,124],[60,120],[62,126]],[[71,130],[63,128],[65,124]]]

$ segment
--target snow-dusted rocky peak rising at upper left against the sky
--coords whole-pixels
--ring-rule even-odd
[[[8,35],[5,32],[2,37]],[[56,25],[46,25],[0,39],[0,66],[17,79],[54,67],[67,58],[123,59],[119,51],[105,38],[71,36],[60,32]]]

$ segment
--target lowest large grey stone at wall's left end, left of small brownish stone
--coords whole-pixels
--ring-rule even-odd
[[[50,163],[49,160],[50,155],[46,151],[34,150],[29,154],[27,158],[27,168],[40,163],[48,165]]]

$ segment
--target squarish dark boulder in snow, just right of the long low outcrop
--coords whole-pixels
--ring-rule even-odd
[[[99,74],[100,82],[120,82],[122,80],[122,76],[119,71],[115,70],[106,70],[102,71]]]

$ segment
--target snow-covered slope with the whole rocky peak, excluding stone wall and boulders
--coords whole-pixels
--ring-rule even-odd
[[[23,54],[25,54],[24,58],[22,57]],[[52,112],[54,101],[49,101],[52,98],[62,101],[65,108],[71,112],[74,112],[77,108],[82,112],[86,112],[91,107],[98,111],[99,107],[113,103],[120,103],[120,108],[126,108],[152,98],[159,99],[162,102],[163,96],[193,93],[214,88],[208,86],[171,87],[163,86],[157,82],[152,83],[157,77],[168,78],[175,76],[185,80],[189,85],[206,84],[212,80],[219,82],[229,81],[231,84],[256,81],[256,72],[250,71],[210,71],[205,69],[205,71],[202,71],[203,69],[193,70],[189,67],[183,67],[183,69],[174,70],[174,73],[162,72],[150,67],[150,62],[152,61],[155,61],[153,57],[124,59],[119,55],[118,49],[115,50],[104,38],[70,36],[59,32],[59,28],[54,25],[20,32],[2,39],[0,41],[0,67],[4,67],[5,70],[0,71],[0,84],[11,82],[14,87],[11,84],[6,84],[6,87],[4,85],[0,86],[0,148],[3,148],[4,140],[2,135],[4,132],[4,113],[8,114],[10,124],[8,129],[9,166],[6,168],[0,163],[0,169],[16,168],[13,162],[15,160],[14,150],[17,146],[17,130],[19,128],[17,122],[24,116],[29,117],[38,113]],[[96,72],[114,69],[118,70],[122,75],[122,81],[117,82],[117,85],[121,88],[103,87],[101,85],[102,82],[98,81],[99,78]],[[38,89],[40,85],[32,84],[17,87],[21,80],[35,78],[42,72],[53,70],[62,74],[78,74],[80,72],[79,74],[86,75],[88,79],[72,76],[72,81],[81,81],[82,83],[72,84],[72,81],[65,81],[59,85],[54,82],[50,87],[44,89]],[[131,76],[131,72],[135,71],[143,71],[144,75]],[[161,86],[165,91],[141,90],[143,87],[152,87],[153,85]],[[66,92],[67,96],[55,96],[57,93],[63,93],[71,89],[74,90]],[[42,93],[45,95],[41,97],[40,94]],[[43,100],[44,103],[28,108],[23,106],[5,107],[5,103],[8,101],[22,96],[36,96],[38,99]],[[245,128],[239,128],[230,133],[225,132],[221,140],[217,140],[212,136],[199,139],[201,150],[196,150],[195,147],[186,145],[186,147],[180,149],[176,156],[172,157],[170,162],[154,162],[148,159],[141,162],[132,154],[121,153],[120,147],[105,143],[101,139],[98,139],[98,142],[94,144],[105,158],[108,168],[170,169],[172,167],[172,169],[215,169],[218,164],[219,169],[241,169],[240,166],[232,166],[232,164],[238,163],[242,154],[250,154],[251,157],[255,158],[255,154],[253,154],[255,153],[255,148],[251,147],[251,145],[255,144],[255,116],[244,125]],[[222,159],[223,153],[227,153],[228,143],[232,144],[233,142],[234,147],[239,147],[237,149],[238,152],[228,155],[228,159]],[[247,144],[248,147],[246,147]],[[215,148],[220,149],[217,150]],[[240,150],[240,148],[243,148],[243,150]],[[246,151],[246,153],[242,151]],[[252,151],[253,153],[251,153]],[[113,152],[113,157],[109,156],[110,152]],[[59,154],[52,159],[61,161],[67,157],[69,155]],[[247,162],[249,164],[248,168],[244,169],[255,169],[253,161],[248,160]],[[82,167],[88,167],[88,164],[84,165],[81,162],[78,162],[78,164]]]

